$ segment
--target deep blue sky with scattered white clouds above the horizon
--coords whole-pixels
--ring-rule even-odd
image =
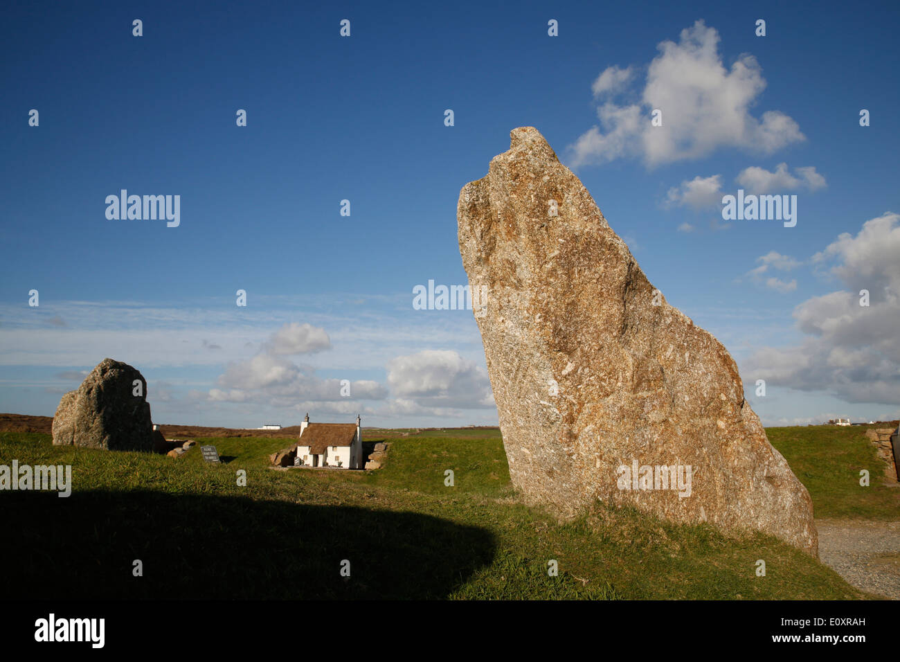
[[[472,313],[411,293],[467,282],[459,191],[530,125],[764,422],[896,418],[898,27],[896,3],[4,5],[0,411],[52,415],[110,356],[157,422],[496,423]],[[108,220],[122,188],[180,195],[180,225]],[[797,195],[797,226],[724,222],[738,188]]]

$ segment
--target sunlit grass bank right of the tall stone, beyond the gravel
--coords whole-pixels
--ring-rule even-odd
[[[874,425],[768,428],[766,435],[788,460],[813,499],[816,518],[900,519],[900,488],[884,484],[886,462],[866,437]],[[860,470],[869,470],[869,486]]]

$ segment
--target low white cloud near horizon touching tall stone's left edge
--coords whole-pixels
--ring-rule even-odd
[[[448,349],[425,349],[388,364],[397,406],[478,409],[495,406],[487,371]]]

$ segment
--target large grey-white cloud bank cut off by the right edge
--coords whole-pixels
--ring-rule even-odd
[[[844,233],[813,262],[847,290],[814,296],[794,309],[805,338],[763,348],[745,362],[752,379],[824,391],[848,403],[900,402],[900,215],[886,213]],[[860,290],[869,290],[869,306]]]

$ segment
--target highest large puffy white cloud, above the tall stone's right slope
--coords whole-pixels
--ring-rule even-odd
[[[718,51],[719,34],[703,21],[680,33],[680,41],[662,41],[647,68],[644,89],[631,103],[606,101],[598,108],[599,126],[572,145],[572,166],[613,159],[643,159],[648,167],[698,159],[721,148],[770,154],[806,140],[791,117],[750,112],[766,86],[752,55],[741,55],[725,68]],[[594,81],[596,96],[617,89],[630,68],[608,68]],[[653,109],[662,111],[662,126],[651,124]]]

